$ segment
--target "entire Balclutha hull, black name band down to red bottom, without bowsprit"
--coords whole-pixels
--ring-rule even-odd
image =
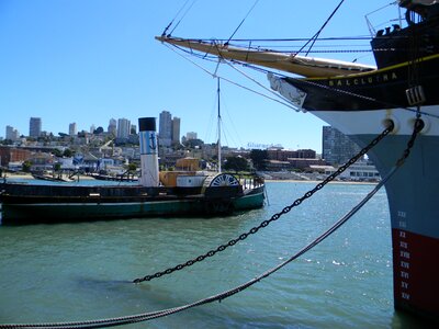
[[[409,157],[386,182],[392,246],[394,303],[434,320],[439,318],[439,56],[423,58],[418,77],[425,101],[420,106],[424,128]],[[330,79],[271,79],[273,89],[364,147],[390,122],[391,135],[368,156],[385,177],[407,148],[417,106],[408,104],[407,64],[369,73]],[[360,95],[360,97],[359,97]],[[374,100],[385,100],[376,102]],[[317,110],[318,109],[318,110]],[[367,243],[367,241],[365,241]],[[367,245],[364,246],[367,248]]]

